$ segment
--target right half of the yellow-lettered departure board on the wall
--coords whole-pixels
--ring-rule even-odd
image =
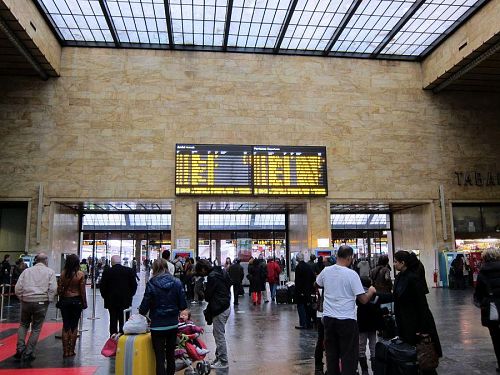
[[[254,195],[328,194],[325,147],[253,146]]]

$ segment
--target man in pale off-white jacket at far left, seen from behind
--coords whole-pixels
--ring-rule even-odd
[[[17,333],[15,358],[32,361],[35,359],[35,346],[42,330],[49,302],[57,292],[56,274],[48,267],[48,258],[39,253],[36,264],[23,271],[16,283],[16,295],[21,301],[21,324]],[[26,344],[26,333],[33,321],[31,335]]]

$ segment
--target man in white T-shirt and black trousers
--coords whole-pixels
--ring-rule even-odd
[[[365,293],[359,275],[349,268],[353,254],[352,247],[341,246],[337,264],[326,267],[316,278],[316,284],[324,288],[323,325],[328,375],[356,374],[359,354],[356,299],[365,304],[376,293],[374,287]]]

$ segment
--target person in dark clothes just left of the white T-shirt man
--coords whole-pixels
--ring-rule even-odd
[[[309,264],[304,262],[304,254],[298,253],[297,267],[295,267],[295,301],[299,313],[299,325],[297,329],[312,328],[313,311],[311,308],[311,294],[314,292],[314,281],[316,277]]]

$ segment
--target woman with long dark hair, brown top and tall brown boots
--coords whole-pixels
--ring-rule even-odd
[[[82,309],[87,308],[85,275],[80,271],[80,259],[76,254],[66,257],[64,270],[57,285],[57,294],[63,318],[63,357],[72,357],[75,355],[78,321]]]

